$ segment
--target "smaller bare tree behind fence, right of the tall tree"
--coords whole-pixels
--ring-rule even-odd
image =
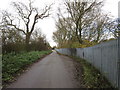
[[[89,24],[89,27],[85,31],[85,37],[87,40],[95,41],[99,43],[101,40],[106,39],[109,37],[109,30],[107,29],[110,27],[108,23],[110,22],[110,16],[108,14],[104,14],[102,12],[98,12],[99,14],[95,18],[95,20]]]

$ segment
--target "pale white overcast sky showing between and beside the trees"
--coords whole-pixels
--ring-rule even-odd
[[[26,2],[27,0],[0,0],[0,10],[11,10],[12,7],[10,5],[11,1],[21,1]],[[103,10],[105,13],[111,13],[114,18],[118,17],[118,1],[120,0],[106,0]],[[49,18],[40,20],[37,24],[41,28],[42,33],[44,33],[47,37],[48,42],[51,46],[56,45],[56,43],[52,40],[52,33],[56,31],[54,18],[56,17],[57,7],[61,4],[62,0],[35,0],[36,7],[44,7],[45,5],[49,5],[54,3],[52,15]]]

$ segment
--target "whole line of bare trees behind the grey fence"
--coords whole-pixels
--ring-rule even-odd
[[[65,9],[58,9],[57,31],[53,33],[58,47],[88,47],[119,37],[119,19],[113,20],[110,15],[105,14],[101,9],[103,5],[103,1],[98,0],[67,0],[64,3]]]

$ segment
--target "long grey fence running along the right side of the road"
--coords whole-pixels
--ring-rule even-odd
[[[56,49],[58,52],[84,58],[120,89],[120,38],[88,48]]]

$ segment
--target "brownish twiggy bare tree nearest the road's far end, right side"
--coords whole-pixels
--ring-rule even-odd
[[[56,22],[57,31],[53,33],[53,39],[56,43],[58,43],[59,47],[65,47],[69,41],[72,41],[74,37],[74,30],[72,26],[71,19],[58,17],[59,20]]]

